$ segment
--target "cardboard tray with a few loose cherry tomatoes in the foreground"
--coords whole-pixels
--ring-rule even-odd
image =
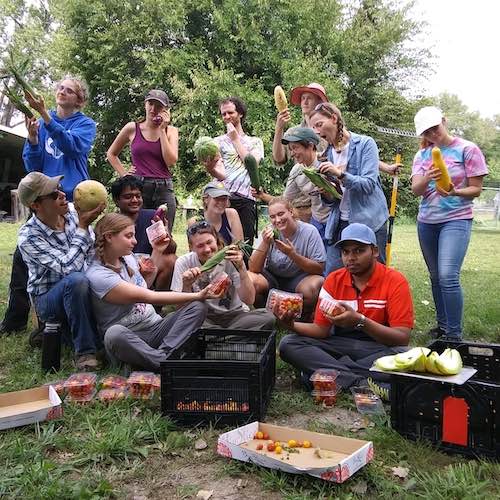
[[[273,441],[283,443],[289,439],[308,440],[312,443],[312,447],[299,448],[299,453],[288,454],[284,451],[281,455],[264,450],[258,451],[256,445],[258,443],[265,444],[266,441],[254,439],[257,431],[266,432]],[[317,447],[333,452],[333,457],[317,457],[314,454]],[[217,442],[217,453],[224,457],[251,462],[270,469],[292,474],[308,474],[325,481],[343,483],[372,460],[373,444],[371,441],[361,439],[252,422],[221,434]]]

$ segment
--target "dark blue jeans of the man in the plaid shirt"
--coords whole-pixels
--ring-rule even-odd
[[[58,321],[69,326],[77,355],[95,353],[102,348],[92,313],[89,280],[83,273],[68,274],[33,300],[42,321]]]

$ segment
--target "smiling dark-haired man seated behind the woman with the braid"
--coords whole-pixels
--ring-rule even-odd
[[[135,254],[153,253],[153,248],[148,240],[146,228],[151,225],[155,210],[151,208],[142,208],[142,190],[143,181],[133,175],[125,175],[111,184],[111,196],[115,205],[121,214],[130,217],[135,224],[135,245],[133,252]],[[167,233],[169,233],[168,223],[164,218]],[[171,230],[171,228],[170,228]],[[174,265],[177,259],[175,252],[177,244],[170,237],[170,243],[157,260],[158,272],[153,284],[155,290],[170,290]]]

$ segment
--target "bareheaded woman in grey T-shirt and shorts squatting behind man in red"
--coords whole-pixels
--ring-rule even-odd
[[[323,284],[326,252],[321,236],[311,224],[294,219],[285,198],[269,201],[269,218],[272,226],[262,231],[262,241],[249,260],[250,278],[261,300],[271,288],[303,294],[306,317]],[[273,228],[279,236],[273,236]]]

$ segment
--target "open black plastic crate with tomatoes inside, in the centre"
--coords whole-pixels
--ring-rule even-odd
[[[181,425],[262,420],[274,388],[273,331],[201,329],[161,363],[161,407]]]

